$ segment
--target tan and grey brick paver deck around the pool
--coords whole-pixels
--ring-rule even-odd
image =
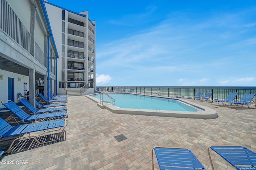
[[[191,99],[187,99],[192,101]],[[153,146],[190,149],[211,170],[207,147],[216,144],[245,146],[256,152],[256,109],[234,109],[192,101],[217,111],[216,119],[188,119],[114,114],[100,109],[85,96],[68,97],[68,126],[64,141],[4,154],[0,169],[148,170]],[[118,142],[114,136],[127,139]],[[0,142],[0,150],[6,149]],[[233,170],[211,152],[214,168]],[[27,164],[17,164],[17,160]],[[159,169],[154,160],[155,168]]]

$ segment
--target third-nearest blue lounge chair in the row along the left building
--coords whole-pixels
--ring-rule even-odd
[[[47,109],[36,109],[34,106],[32,106],[26,99],[24,98],[18,98],[20,103],[22,103],[28,110],[30,110],[32,113],[38,114],[38,113],[49,113],[49,112],[60,112],[60,111],[67,111],[67,107],[56,107],[56,108],[47,108]]]

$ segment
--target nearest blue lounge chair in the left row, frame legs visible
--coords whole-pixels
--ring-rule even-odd
[[[4,121],[3,119],[0,118],[0,139],[2,138],[7,138],[10,136],[19,136],[18,138],[14,139],[9,146],[8,152],[14,142],[16,140],[22,139],[22,138],[34,138],[38,144],[45,144],[49,142],[54,142],[60,140],[60,137],[63,134],[63,131],[66,127],[66,119],[56,119],[52,121],[43,121],[43,122],[36,122],[36,123],[29,123],[25,125],[17,125],[15,127],[12,127],[9,123]],[[57,129],[56,129],[57,128]],[[44,141],[44,142],[39,142],[37,137],[44,135],[47,132],[53,132],[60,130],[60,135],[58,138],[52,138],[52,140]],[[37,136],[31,135],[33,132],[39,132],[39,131],[44,131],[44,133],[39,134]],[[22,136],[22,134],[28,134],[25,136]],[[38,133],[36,133],[38,134]],[[12,138],[10,138],[12,139]]]

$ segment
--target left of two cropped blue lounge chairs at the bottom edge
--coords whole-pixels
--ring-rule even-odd
[[[160,170],[206,169],[189,149],[157,146],[151,152],[152,170],[154,170],[153,150]]]

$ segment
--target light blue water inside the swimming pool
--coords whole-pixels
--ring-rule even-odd
[[[196,112],[198,110],[190,107],[175,99],[167,99],[161,97],[152,97],[135,94],[122,94],[122,93],[108,93],[116,100],[116,106],[128,109],[153,109],[153,110],[166,110],[166,111],[190,111]],[[92,95],[100,99],[100,94]],[[104,101],[110,101],[110,98],[103,94]]]

